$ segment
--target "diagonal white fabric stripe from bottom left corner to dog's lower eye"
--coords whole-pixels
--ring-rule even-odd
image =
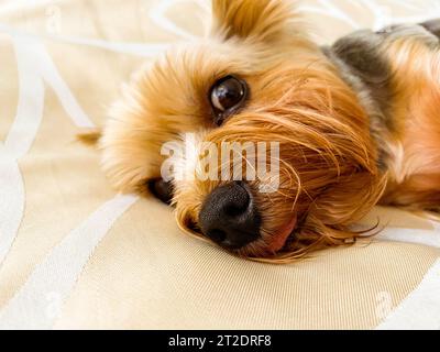
[[[96,246],[136,199],[117,196],[66,235],[0,311],[0,329],[51,329]]]

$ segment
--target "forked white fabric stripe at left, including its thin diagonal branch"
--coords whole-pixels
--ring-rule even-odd
[[[44,80],[54,89],[76,125],[94,127],[59,76],[44,45],[30,36],[13,36],[13,44],[20,91],[16,116],[0,151],[0,264],[12,246],[23,217],[25,193],[18,161],[30,151],[43,120]]]

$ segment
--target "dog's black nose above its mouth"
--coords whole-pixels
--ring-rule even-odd
[[[199,224],[206,237],[232,250],[258,239],[261,217],[250,187],[234,182],[216,188],[201,207]]]

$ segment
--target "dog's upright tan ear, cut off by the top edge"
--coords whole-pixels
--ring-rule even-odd
[[[298,33],[292,0],[212,0],[212,34],[274,43]]]

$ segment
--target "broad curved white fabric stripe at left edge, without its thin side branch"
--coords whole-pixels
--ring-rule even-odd
[[[32,146],[43,119],[44,85],[35,69],[31,42],[14,40],[19,75],[16,116],[0,144],[0,264],[16,237],[24,211],[24,185],[18,160]]]

